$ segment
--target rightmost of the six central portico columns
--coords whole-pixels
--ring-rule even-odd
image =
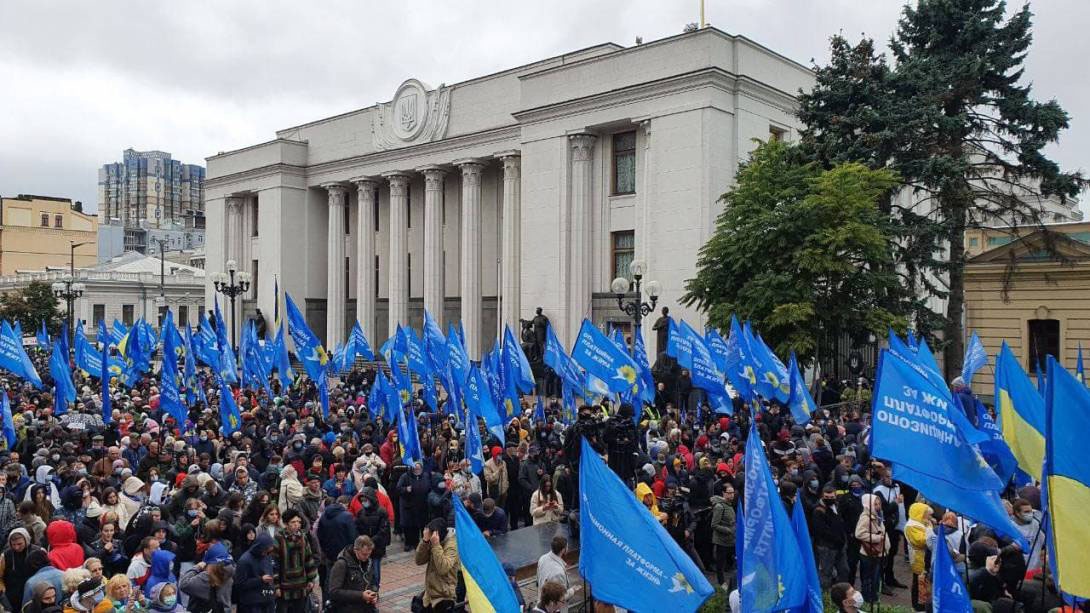
[[[519,292],[522,273],[522,192],[521,157],[519,152],[499,154],[504,163],[504,228],[500,260],[501,326],[519,333],[521,302]]]

